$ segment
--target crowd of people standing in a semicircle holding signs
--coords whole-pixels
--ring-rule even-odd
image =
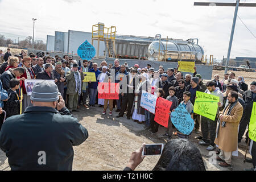
[[[225,74],[224,80],[219,75],[214,79],[203,82],[203,77],[197,73],[196,67],[193,76],[183,75],[178,68],[168,68],[166,71],[162,66],[158,69],[147,64],[145,68],[139,68],[138,64],[129,67],[127,63],[120,65],[118,59],[113,64],[102,61],[101,65],[88,60],[73,60],[72,57],[58,55],[51,57],[49,53],[43,57],[22,51],[19,55],[12,56],[10,49],[7,49],[0,68],[0,129],[5,119],[3,110],[6,111],[6,118],[24,113],[35,96],[28,95],[26,80],[52,80],[57,86],[57,91],[63,98],[64,105],[70,113],[78,112],[80,107],[102,107],[102,114],[113,115],[113,109],[118,113],[114,117],[123,117],[126,113],[127,119],[133,119],[144,129],[155,134],[158,132],[159,123],[154,121],[155,115],[141,106],[142,91],[154,94],[157,98],[162,97],[172,102],[170,114],[180,104],[185,107],[191,118],[195,120],[193,132],[201,134],[199,144],[207,146],[207,150],[219,153],[217,160],[222,167],[230,167],[232,152],[237,150],[237,145],[242,140],[246,127],[250,122],[250,115],[253,102],[256,102],[256,81],[251,82],[250,89],[243,77],[233,72]],[[179,67],[179,65],[178,65]],[[95,73],[96,81],[84,82],[86,74]],[[119,99],[98,98],[99,82],[119,83]],[[205,92],[220,98],[218,110],[214,121],[194,113],[196,92]],[[89,99],[88,99],[89,97]],[[46,98],[42,98],[42,100]],[[40,98],[38,98],[40,100]],[[32,101],[32,102],[31,102]],[[156,110],[158,108],[156,107]],[[201,118],[201,119],[200,119]],[[201,123],[200,123],[201,121]],[[166,133],[161,137],[172,140],[174,136],[188,139],[191,134],[180,133],[172,125],[169,117]],[[209,135],[209,138],[208,138]],[[246,143],[250,139],[246,133]],[[253,155],[253,168],[255,169],[256,143],[251,140]],[[217,145],[217,146],[216,146]]]

